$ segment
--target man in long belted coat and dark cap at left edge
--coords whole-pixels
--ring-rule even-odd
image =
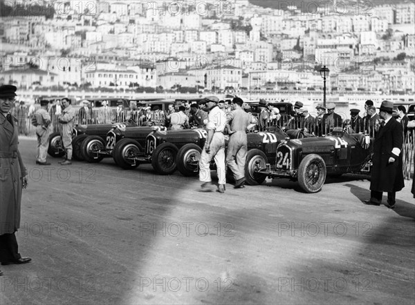
[[[28,185],[28,172],[19,153],[17,119],[10,115],[15,100],[15,86],[0,86],[0,262],[25,264],[21,257],[16,231],[20,227],[21,191]],[[3,273],[0,271],[0,275]]]

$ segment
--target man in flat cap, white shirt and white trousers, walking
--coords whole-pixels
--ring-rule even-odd
[[[202,192],[212,192],[212,178],[210,177],[210,161],[214,158],[216,170],[219,179],[217,191],[225,193],[226,173],[225,173],[225,136],[223,130],[226,125],[226,115],[216,103],[219,101],[217,97],[206,97],[206,110],[209,111],[208,137],[202,150],[201,160],[199,161],[199,180],[203,182],[201,185]]]

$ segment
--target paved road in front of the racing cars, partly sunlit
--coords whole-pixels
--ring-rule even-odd
[[[30,170],[0,304],[414,304],[415,205],[365,206],[367,180],[317,194],[268,181],[225,194],[105,159]],[[384,197],[385,198],[385,197]]]

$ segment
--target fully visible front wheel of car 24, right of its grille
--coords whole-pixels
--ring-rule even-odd
[[[317,193],[322,190],[326,181],[326,164],[319,155],[306,155],[298,167],[299,186],[306,193]]]

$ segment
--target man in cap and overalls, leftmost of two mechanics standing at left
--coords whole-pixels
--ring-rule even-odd
[[[39,165],[50,165],[50,163],[46,161],[50,135],[50,115],[48,112],[48,104],[49,101],[40,101],[40,108],[36,110],[33,117],[33,125],[36,126],[37,135],[36,164]]]

